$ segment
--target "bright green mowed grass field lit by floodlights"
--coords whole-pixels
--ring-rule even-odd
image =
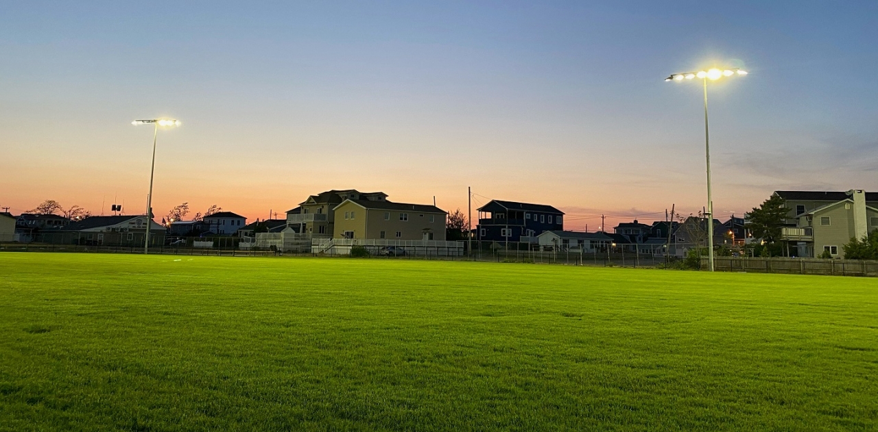
[[[0,253],[2,430],[875,430],[878,280]]]

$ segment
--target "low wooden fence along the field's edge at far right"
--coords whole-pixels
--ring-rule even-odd
[[[702,269],[708,259],[702,258]],[[878,277],[878,261],[818,258],[732,258],[715,257],[717,272],[825,274]]]

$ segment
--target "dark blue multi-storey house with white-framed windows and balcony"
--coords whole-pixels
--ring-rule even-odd
[[[560,230],[564,230],[564,212],[559,209],[543,204],[492,200],[479,208],[476,238],[536,243],[536,236],[543,231]]]

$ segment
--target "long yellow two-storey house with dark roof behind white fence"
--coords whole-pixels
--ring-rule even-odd
[[[448,213],[435,206],[347,199],[334,212],[335,238],[445,240]]]

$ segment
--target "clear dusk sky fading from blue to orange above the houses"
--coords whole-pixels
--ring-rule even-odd
[[[328,189],[565,229],[715,215],[774,190],[878,190],[878,2],[6,2],[0,207],[212,204]]]

